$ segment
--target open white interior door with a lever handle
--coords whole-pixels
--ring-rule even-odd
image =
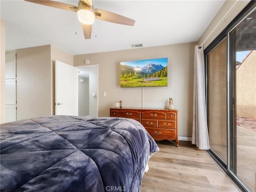
[[[55,114],[78,115],[78,69],[55,62]]]

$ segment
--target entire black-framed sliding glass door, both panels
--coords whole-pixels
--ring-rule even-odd
[[[256,191],[256,1],[205,50],[210,153]]]

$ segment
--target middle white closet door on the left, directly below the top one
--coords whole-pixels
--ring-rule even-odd
[[[5,80],[5,104],[16,105],[16,79]]]

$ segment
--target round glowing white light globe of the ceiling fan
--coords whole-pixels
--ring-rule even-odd
[[[76,12],[78,20],[86,25],[91,25],[95,21],[94,11],[91,10],[88,6],[78,6],[78,10]]]

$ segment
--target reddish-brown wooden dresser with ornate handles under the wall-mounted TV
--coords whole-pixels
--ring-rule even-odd
[[[178,110],[110,108],[111,117],[124,117],[137,120],[156,141],[178,138]]]

